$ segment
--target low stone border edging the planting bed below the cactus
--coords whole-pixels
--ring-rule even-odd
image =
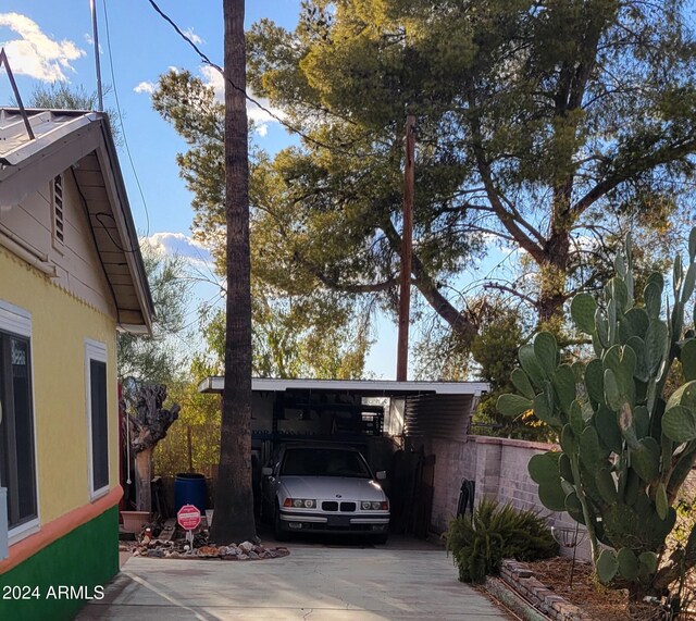
[[[534,608],[555,621],[592,621],[592,617],[564,597],[554,593],[542,584],[534,572],[523,562],[504,560],[500,580]]]

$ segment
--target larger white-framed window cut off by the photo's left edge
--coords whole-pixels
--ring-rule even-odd
[[[7,488],[10,538],[39,523],[32,315],[0,300],[0,486]]]

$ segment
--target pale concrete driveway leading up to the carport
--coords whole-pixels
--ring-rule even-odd
[[[245,562],[133,557],[78,619],[509,619],[458,582],[451,557],[435,546],[289,549]]]

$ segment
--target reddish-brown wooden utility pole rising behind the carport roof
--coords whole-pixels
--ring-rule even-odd
[[[406,117],[406,159],[403,166],[403,229],[401,232],[401,286],[399,293],[399,336],[396,380],[408,380],[409,323],[411,310],[411,264],[413,254],[413,192],[415,185],[415,116]]]

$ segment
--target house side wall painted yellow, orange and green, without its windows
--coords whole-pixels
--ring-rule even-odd
[[[121,497],[115,319],[3,248],[0,300],[30,313],[39,507],[38,530],[10,539],[10,556],[0,561],[0,586],[25,584],[44,589],[104,584],[117,571],[115,504]],[[107,349],[110,492],[101,499],[90,498],[86,338]],[[80,511],[88,517],[74,522],[72,516]],[[13,604],[5,617],[2,608],[10,605],[0,601],[0,619],[70,619],[84,600],[49,601],[49,608],[40,604]]]

